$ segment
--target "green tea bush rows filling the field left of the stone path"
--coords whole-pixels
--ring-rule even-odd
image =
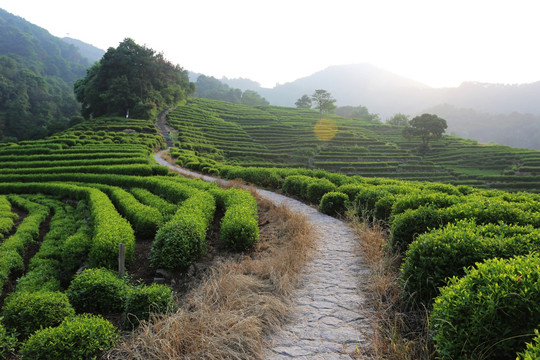
[[[153,160],[163,145],[152,121],[100,118],[0,146],[0,357],[93,358],[174,308],[168,286],[118,275],[120,244],[129,266],[155,239],[152,268],[175,272],[205,254],[215,221],[232,250],[258,240],[255,198],[175,176]]]

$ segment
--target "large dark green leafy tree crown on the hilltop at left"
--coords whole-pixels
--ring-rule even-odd
[[[129,38],[109,48],[74,88],[85,118],[129,113],[149,119],[195,92],[187,71]]]

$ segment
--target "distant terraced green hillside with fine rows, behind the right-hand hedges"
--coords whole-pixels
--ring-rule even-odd
[[[319,125],[318,121],[314,110],[253,108],[206,99],[193,99],[169,114],[169,125],[178,130],[178,149],[173,153],[196,170],[216,168],[215,163],[303,167],[486,188],[540,189],[539,151],[445,136],[422,156],[417,153],[419,140],[403,138],[400,127],[337,116]]]

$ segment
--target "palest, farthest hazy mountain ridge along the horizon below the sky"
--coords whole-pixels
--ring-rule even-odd
[[[471,81],[458,87],[433,88],[365,63],[330,66],[272,89],[257,88],[257,83],[248,79],[223,78],[222,81],[240,89],[255,90],[271,104],[283,106],[294,106],[302,95],[325,89],[332,93],[338,106],[363,105],[383,119],[397,112],[415,115],[439,104],[490,113],[540,115],[540,81],[521,85]]]

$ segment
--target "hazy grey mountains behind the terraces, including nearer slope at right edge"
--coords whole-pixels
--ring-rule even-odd
[[[329,91],[338,106],[365,106],[387,119],[396,113],[435,113],[448,122],[448,133],[481,142],[540,149],[540,82],[521,85],[465,82],[432,88],[369,64],[331,66],[308,77],[261,88],[248,79],[222,81],[259,92],[272,105],[294,106],[315,89]],[[450,111],[450,108],[456,111]]]

